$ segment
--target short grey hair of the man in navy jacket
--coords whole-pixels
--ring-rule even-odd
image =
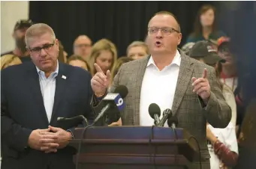
[[[30,26],[25,34],[25,42],[26,46],[29,44],[29,39],[33,37],[41,37],[43,34],[50,34],[53,37],[53,40],[56,39],[56,35],[53,31],[53,28],[51,28],[49,25],[45,23],[37,23],[32,26]]]

